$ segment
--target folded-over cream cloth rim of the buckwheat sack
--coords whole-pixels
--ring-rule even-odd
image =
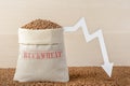
[[[63,28],[32,30],[18,28],[20,44],[56,44],[63,43]]]

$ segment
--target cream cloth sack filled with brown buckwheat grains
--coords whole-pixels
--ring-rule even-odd
[[[63,29],[36,19],[18,29],[20,55],[14,81],[68,82]]]

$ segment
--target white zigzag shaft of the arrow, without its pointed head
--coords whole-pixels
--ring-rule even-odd
[[[95,38],[99,39],[104,63],[108,63],[109,60],[108,60],[108,55],[107,55],[102,30],[98,30],[96,32],[90,34],[88,31],[84,18],[81,18],[74,27],[64,27],[64,29],[65,29],[65,31],[76,31],[80,27],[82,29],[82,32],[83,32],[83,35],[84,35],[84,39],[87,42],[89,42]]]

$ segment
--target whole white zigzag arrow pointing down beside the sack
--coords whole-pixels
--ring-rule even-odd
[[[99,39],[101,52],[102,52],[103,60],[104,60],[104,64],[102,66],[102,68],[107,73],[107,75],[110,77],[112,71],[113,71],[113,63],[110,63],[108,60],[108,55],[107,55],[107,51],[106,51],[102,30],[98,30],[96,32],[90,34],[88,31],[87,25],[86,25],[86,20],[82,17],[74,27],[64,27],[64,31],[76,31],[80,27],[82,29],[82,32],[83,32],[83,35],[84,35],[84,39],[87,42],[90,42],[91,40],[93,40],[95,38]]]

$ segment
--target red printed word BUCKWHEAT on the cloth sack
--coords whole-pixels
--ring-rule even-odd
[[[21,52],[22,58],[25,59],[51,59],[51,58],[61,58],[61,51],[23,51]]]

